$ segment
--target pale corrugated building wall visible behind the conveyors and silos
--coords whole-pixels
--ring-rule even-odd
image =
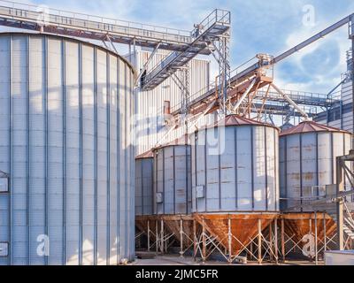
[[[157,65],[163,58],[167,56],[168,52],[159,52],[151,60],[149,68]],[[129,56],[127,56],[129,57]],[[137,51],[136,58],[132,54],[131,60],[136,64],[137,70],[141,70],[143,65],[150,57],[148,51]],[[210,62],[200,59],[194,59],[190,63],[189,72],[189,93],[191,96],[196,94],[202,89],[206,89],[209,86],[209,68]],[[181,72],[177,72],[176,75],[181,79]],[[137,119],[137,147],[136,154],[140,155],[150,149],[152,149],[165,135],[168,128],[165,127],[164,116],[164,103],[169,101],[171,108],[176,105],[180,105],[182,99],[182,91],[178,85],[170,78],[165,80],[158,88],[140,92],[136,94],[136,112],[138,114]],[[164,142],[171,142],[179,138],[184,133],[183,127],[180,127],[169,134]]]

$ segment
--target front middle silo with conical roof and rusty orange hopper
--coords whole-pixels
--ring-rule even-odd
[[[278,137],[277,127],[236,115],[194,134],[193,212],[230,262],[278,216]]]

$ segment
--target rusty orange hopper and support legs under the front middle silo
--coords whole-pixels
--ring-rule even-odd
[[[247,257],[242,254],[258,264],[263,264],[266,258],[278,263],[278,233],[275,233],[278,225],[275,214],[204,214],[195,215],[195,218],[201,226],[199,233],[195,234],[195,258],[199,254],[206,261],[214,252],[219,251],[229,264],[247,264]],[[242,237],[239,229],[235,229],[245,223],[250,226],[250,234],[246,238]],[[214,226],[219,227],[219,232],[222,231],[218,233]]]

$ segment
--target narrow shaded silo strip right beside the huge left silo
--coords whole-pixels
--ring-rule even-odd
[[[153,215],[153,171],[152,151],[135,157],[135,216]]]

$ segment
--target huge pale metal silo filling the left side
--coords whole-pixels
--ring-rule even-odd
[[[133,260],[132,66],[88,42],[7,33],[0,73],[0,264]]]

